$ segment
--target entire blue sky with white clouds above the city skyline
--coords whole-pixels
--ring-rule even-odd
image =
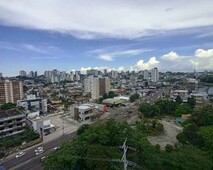
[[[0,72],[213,70],[212,0],[1,0]]]

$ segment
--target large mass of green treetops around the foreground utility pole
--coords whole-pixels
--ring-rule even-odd
[[[155,125],[152,124],[151,128],[153,126]],[[106,124],[86,125],[79,130],[79,136],[74,141],[64,143],[61,149],[50,154],[43,162],[44,168],[47,170],[120,170],[123,168],[122,163],[112,160],[122,158],[123,151],[118,146],[122,146],[127,138],[127,145],[136,149],[136,151],[130,149],[127,151],[127,159],[137,163],[135,169],[212,169],[212,160],[205,151],[193,145],[180,148],[168,145],[163,151],[160,150],[159,145],[151,145],[144,132],[146,127],[141,122],[136,124],[135,129],[126,122],[119,123],[113,119],[108,120]]]

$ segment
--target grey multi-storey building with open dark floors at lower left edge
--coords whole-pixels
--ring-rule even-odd
[[[0,136],[13,136],[24,132],[26,115],[17,109],[0,111]]]

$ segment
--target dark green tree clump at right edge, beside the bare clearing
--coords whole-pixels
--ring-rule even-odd
[[[177,135],[182,144],[192,144],[208,153],[213,159],[213,108],[195,110],[191,119],[183,123],[183,132]]]

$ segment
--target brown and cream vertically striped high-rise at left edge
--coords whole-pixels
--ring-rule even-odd
[[[0,81],[0,105],[5,103],[16,103],[23,99],[23,83],[21,81]]]

